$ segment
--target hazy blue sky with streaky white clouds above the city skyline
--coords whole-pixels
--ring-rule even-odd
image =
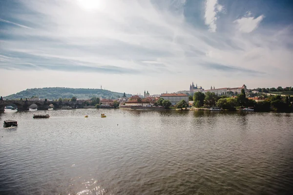
[[[0,95],[293,85],[292,0],[0,0]]]

